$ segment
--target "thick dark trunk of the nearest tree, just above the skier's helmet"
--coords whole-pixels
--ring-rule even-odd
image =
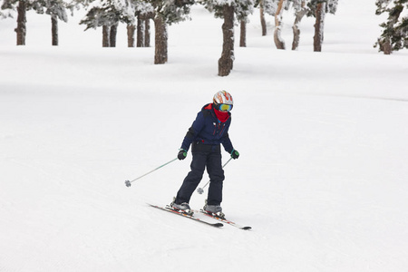
[[[234,63],[234,7],[224,5],[224,24],[222,24],[223,44],[219,58],[219,76],[227,76]]]

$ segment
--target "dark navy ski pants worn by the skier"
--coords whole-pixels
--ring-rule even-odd
[[[191,170],[184,179],[179,192],[177,193],[176,203],[181,204],[183,202],[189,203],[192,193],[199,186],[199,181],[202,180],[204,170],[207,167],[209,173],[209,194],[207,203],[209,205],[220,205],[222,202],[222,185],[225,179],[224,170],[222,170],[221,151],[219,145],[210,146],[209,151],[202,151],[209,149],[206,147],[192,148],[192,161]],[[201,151],[194,151],[201,150]]]

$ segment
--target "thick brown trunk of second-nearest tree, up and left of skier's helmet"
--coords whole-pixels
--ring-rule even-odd
[[[154,32],[154,63],[167,63],[167,25],[160,15],[156,15],[154,18]]]

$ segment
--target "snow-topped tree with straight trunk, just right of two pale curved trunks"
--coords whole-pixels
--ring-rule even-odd
[[[321,52],[324,40],[325,14],[335,14],[338,0],[310,0],[307,4],[309,7],[308,16],[316,17],[314,51]]]

